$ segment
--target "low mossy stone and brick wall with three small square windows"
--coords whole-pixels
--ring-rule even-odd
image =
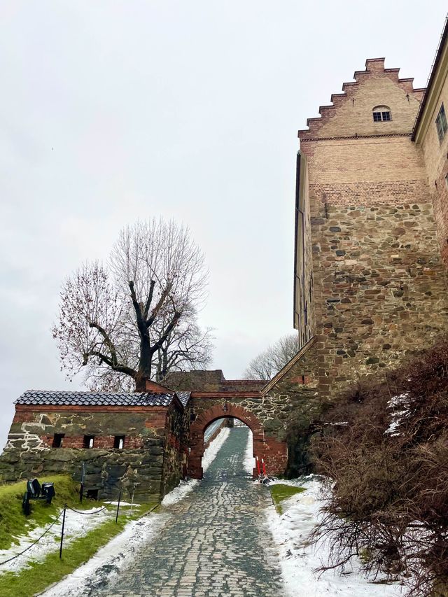
[[[167,409],[151,407],[23,407],[17,405],[8,442],[0,456],[0,480],[66,473],[80,479],[86,463],[86,489],[104,498],[123,488],[140,500],[159,499]],[[52,448],[55,433],[64,433],[61,448]],[[94,435],[94,447],[83,448],[83,436]],[[113,449],[113,437],[125,435],[124,449]]]

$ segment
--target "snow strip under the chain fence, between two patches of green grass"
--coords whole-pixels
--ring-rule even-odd
[[[98,510],[98,507],[91,508],[90,510],[83,510],[83,514],[78,514],[77,512],[73,512],[72,510],[66,510],[65,515],[65,528],[64,528],[64,545],[68,545],[73,539],[78,537],[83,537],[89,531],[92,531],[93,528],[102,524],[106,519],[109,519],[115,516],[115,511],[108,511],[102,510],[102,512],[98,512],[97,514],[90,514],[86,516],[88,512],[95,512]],[[8,560],[9,558],[15,556],[15,554],[19,554],[24,549],[29,547],[32,542],[36,541],[38,537],[40,537],[45,528],[48,528],[49,524],[41,527],[38,526],[30,531],[27,537],[19,538],[19,545],[13,545],[10,549],[1,549],[0,550],[0,563],[3,561]],[[36,543],[31,549],[28,549],[25,554],[18,556],[17,559],[8,562],[0,567],[0,577],[2,573],[5,572],[18,572],[22,568],[25,568],[30,561],[39,561],[45,558],[48,553],[55,552],[59,549],[59,544],[55,540],[55,538],[60,537],[61,535],[61,528],[62,528],[62,516],[59,517],[59,520],[55,525],[50,528],[50,531],[46,535],[41,538],[41,540]]]

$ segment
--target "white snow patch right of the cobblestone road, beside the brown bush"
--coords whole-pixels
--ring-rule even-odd
[[[283,481],[279,481],[283,483]],[[328,563],[328,546],[310,545],[311,533],[321,508],[321,482],[316,477],[304,477],[284,483],[303,486],[306,491],[281,502],[283,514],[274,506],[267,508],[267,524],[279,547],[281,573],[290,597],[398,597],[398,584],[372,584],[360,572],[358,563],[346,565],[341,570],[328,570],[321,574],[314,570]]]

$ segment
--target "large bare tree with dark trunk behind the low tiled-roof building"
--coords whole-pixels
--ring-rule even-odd
[[[210,332],[197,325],[207,278],[188,228],[156,218],[125,227],[108,267],[86,263],[62,286],[52,330],[62,367],[85,367],[90,388],[128,390],[207,364]]]

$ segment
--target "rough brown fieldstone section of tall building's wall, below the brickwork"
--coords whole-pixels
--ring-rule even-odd
[[[315,213],[316,319],[335,391],[430,346],[446,329],[447,287],[430,203]]]

